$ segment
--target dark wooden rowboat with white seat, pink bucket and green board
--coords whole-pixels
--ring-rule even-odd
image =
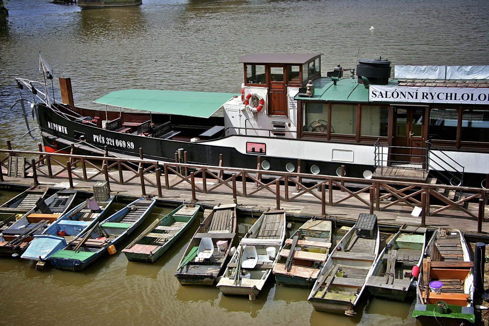
[[[236,236],[236,204],[215,206],[190,240],[175,276],[181,285],[212,285],[221,274]],[[208,245],[203,246],[205,241]],[[212,248],[209,257],[205,250]]]

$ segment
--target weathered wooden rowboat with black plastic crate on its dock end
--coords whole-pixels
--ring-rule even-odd
[[[370,229],[370,234],[367,237],[362,234],[358,217],[355,226],[333,248],[321,269],[308,298],[314,310],[355,314],[353,309],[372,274],[379,245],[377,216],[366,216],[375,217],[375,227]]]

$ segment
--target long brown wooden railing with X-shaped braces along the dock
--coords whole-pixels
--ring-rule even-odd
[[[146,195],[146,186],[156,188],[158,196],[161,197],[163,188],[172,189],[181,183],[188,183],[194,201],[197,200],[196,191],[208,194],[224,187],[232,191],[235,202],[238,195],[249,197],[261,191],[271,193],[276,197],[277,209],[280,208],[282,200],[288,202],[308,195],[307,200],[312,198],[320,201],[322,215],[326,215],[326,206],[335,206],[347,199],[354,199],[356,204],[368,207],[371,214],[388,208],[395,210],[396,205],[407,205],[413,209],[419,207],[422,226],[425,225],[426,216],[434,216],[445,210],[458,210],[461,214],[460,218],[477,220],[478,233],[481,233],[482,222],[486,220],[485,205],[489,197],[489,189],[484,188],[181,163],[186,162],[186,152],[183,153],[183,158],[176,153],[176,162],[158,162],[142,159],[141,149],[140,159],[127,159],[107,155],[84,156],[42,151],[14,151],[10,143],[8,145],[8,150],[0,150],[1,167],[8,171],[8,161],[11,157],[22,157],[22,162],[24,157],[30,158],[25,160],[24,169],[25,173],[32,174],[34,184],[38,183],[37,175],[48,178],[67,177],[72,188],[73,178],[89,181],[104,175],[109,184],[111,182],[128,184],[137,179],[143,196]],[[258,156],[258,167],[260,160]],[[161,166],[163,166],[163,173],[161,173]],[[298,166],[300,167],[300,160]],[[89,176],[88,168],[95,173],[91,171]],[[163,177],[163,185],[161,177]],[[200,183],[196,184],[196,178],[202,180],[201,186]],[[212,182],[208,179],[212,179]],[[308,180],[307,184],[304,180]],[[0,181],[3,181],[3,174],[0,174]],[[335,195],[336,200],[333,200],[333,190],[339,190]],[[444,195],[450,192],[463,193],[465,196],[452,200]],[[338,194],[344,196],[338,199]],[[363,197],[360,196],[362,194]],[[430,205],[435,200],[436,208]]]

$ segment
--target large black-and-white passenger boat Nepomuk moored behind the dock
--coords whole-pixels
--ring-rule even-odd
[[[486,187],[489,67],[396,65],[360,59],[321,73],[321,54],[249,54],[241,94],[149,89],[114,91],[99,110],[63,103],[45,83],[34,105],[47,151],[343,174]],[[392,78],[394,70],[394,78]],[[238,86],[239,87],[239,86]],[[238,88],[239,89],[239,88]],[[260,156],[260,158],[257,158]],[[257,163],[258,162],[258,163]],[[342,166],[343,169],[342,169]]]

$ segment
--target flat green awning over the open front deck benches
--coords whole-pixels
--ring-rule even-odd
[[[113,107],[208,118],[231,99],[231,93],[126,89],[111,92],[94,103]]]

